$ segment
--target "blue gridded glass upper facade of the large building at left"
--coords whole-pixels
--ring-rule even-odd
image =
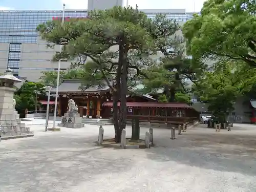
[[[62,11],[0,11],[0,42],[36,43],[36,27],[53,17],[61,17]],[[65,17],[87,17],[86,10],[65,12]],[[9,36],[14,35],[14,36]]]

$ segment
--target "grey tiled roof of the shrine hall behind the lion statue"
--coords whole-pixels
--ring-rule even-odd
[[[81,81],[79,80],[64,80],[59,86],[59,92],[101,92],[109,89],[108,86],[92,86],[86,90],[81,90]],[[56,92],[56,89],[53,89],[51,92]]]

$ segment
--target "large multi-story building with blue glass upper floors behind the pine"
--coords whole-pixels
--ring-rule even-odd
[[[113,0],[114,3],[115,1]],[[95,4],[90,6],[90,1],[89,7],[90,9],[97,8]],[[193,16],[193,13],[186,13],[185,9],[142,11],[151,18],[154,18],[157,13],[164,13],[167,18],[176,19],[180,23],[186,22]],[[87,13],[87,10],[66,10],[65,19],[87,17]],[[47,48],[46,41],[40,38],[36,27],[48,20],[61,17],[61,10],[0,11],[0,73],[10,68],[16,76],[37,81],[42,71],[57,70],[58,63],[52,62],[51,59],[57,51],[60,51],[59,47]],[[68,61],[61,61],[60,70],[66,70],[69,67]]]

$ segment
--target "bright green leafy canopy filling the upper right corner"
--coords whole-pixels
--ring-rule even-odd
[[[225,57],[256,67],[256,2],[208,0],[183,33],[194,59]]]

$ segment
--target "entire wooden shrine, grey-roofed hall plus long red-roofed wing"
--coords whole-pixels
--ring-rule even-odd
[[[112,118],[113,102],[108,86],[80,89],[79,80],[64,80],[59,86],[58,115],[68,110],[68,100],[73,99],[81,117]],[[55,94],[55,90],[51,92]],[[186,103],[160,103],[150,95],[129,91],[127,95],[127,120],[134,117],[141,122],[180,124],[199,119],[199,113]],[[120,103],[119,103],[120,104]]]

